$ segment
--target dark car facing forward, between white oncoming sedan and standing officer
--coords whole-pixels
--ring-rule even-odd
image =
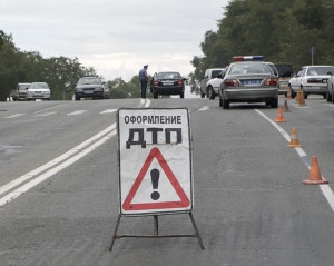
[[[88,97],[91,97],[92,99],[108,98],[106,97],[107,93],[105,83],[106,82],[98,76],[88,76],[80,78],[76,86],[76,100]]]

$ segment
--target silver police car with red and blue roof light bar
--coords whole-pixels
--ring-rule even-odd
[[[230,102],[265,102],[278,106],[278,78],[263,56],[236,56],[226,69],[219,87],[219,106]]]

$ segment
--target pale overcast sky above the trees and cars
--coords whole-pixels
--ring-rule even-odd
[[[106,80],[148,73],[187,76],[217,31],[229,0],[0,0],[0,30],[22,51],[78,58]]]

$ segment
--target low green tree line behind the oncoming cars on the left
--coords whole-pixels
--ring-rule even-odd
[[[21,51],[11,35],[0,30],[0,101],[6,101],[19,82],[47,82],[52,100],[70,100],[78,79],[97,75],[94,67],[82,66],[78,58],[45,58],[38,51]],[[126,82],[118,77],[107,81],[110,98],[140,98],[138,76]],[[150,97],[148,95],[148,97]]]

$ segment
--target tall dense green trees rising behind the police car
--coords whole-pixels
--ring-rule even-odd
[[[334,0],[232,0],[217,31],[205,33],[188,75],[191,92],[198,93],[205,69],[226,67],[233,56],[263,55],[271,62],[334,65]]]

